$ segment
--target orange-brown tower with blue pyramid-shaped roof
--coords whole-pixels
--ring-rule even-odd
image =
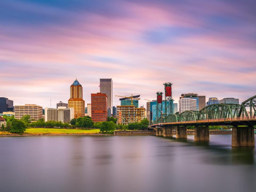
[[[68,107],[73,107],[75,109],[74,117],[85,116],[85,101],[83,100],[83,87],[75,79],[74,83],[70,86],[70,99],[68,101]]]

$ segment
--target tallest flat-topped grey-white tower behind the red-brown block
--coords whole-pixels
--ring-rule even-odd
[[[99,79],[99,91],[107,94],[107,116],[111,117],[111,114],[113,114],[112,79]]]

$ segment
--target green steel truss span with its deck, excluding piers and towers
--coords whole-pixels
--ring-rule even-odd
[[[248,111],[246,110],[248,109]],[[161,115],[150,127],[159,125],[209,126],[256,125],[256,95],[239,104],[213,104],[200,111],[183,111],[181,114]]]

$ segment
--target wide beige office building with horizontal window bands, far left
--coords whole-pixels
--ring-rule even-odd
[[[21,119],[24,115],[30,115],[30,119],[38,121],[43,118],[43,107],[35,104],[15,105],[15,119]]]

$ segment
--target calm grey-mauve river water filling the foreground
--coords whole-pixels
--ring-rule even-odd
[[[156,136],[0,138],[0,191],[256,191],[255,148]]]

